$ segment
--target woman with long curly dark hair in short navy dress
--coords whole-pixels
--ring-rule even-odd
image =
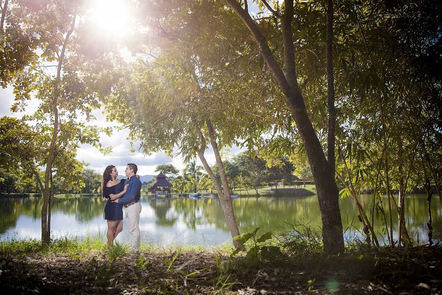
[[[118,171],[115,166],[109,165],[103,173],[101,181],[101,197],[108,201],[105,207],[105,219],[108,221],[108,247],[113,245],[113,240],[123,230],[123,205],[113,203],[124,195],[128,185],[124,181],[116,179]]]

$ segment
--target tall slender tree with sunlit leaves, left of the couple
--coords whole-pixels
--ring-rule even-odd
[[[1,67],[0,79],[3,87],[8,84],[14,86],[16,103],[11,110],[25,109],[31,91],[32,99],[42,102],[33,116],[23,120],[37,122],[35,127],[41,128],[38,132],[44,134],[44,137],[39,136],[44,152],[38,153],[38,156],[34,154],[28,161],[36,176],[36,163],[45,166],[44,181],[39,185],[43,193],[42,242],[46,245],[50,242],[51,233],[50,187],[52,173],[55,172],[53,168],[57,167],[55,163],[67,159],[64,156],[75,159],[79,143],[99,146],[99,129],[86,127],[83,123],[92,118],[91,110],[98,107],[98,102],[85,87],[84,77],[79,75],[79,63],[86,62],[84,52],[78,50],[81,46],[72,46],[71,42],[77,13],[82,10],[79,4],[72,1],[16,0],[4,7],[8,9],[4,18],[7,29],[1,35],[5,40],[1,42],[1,50],[9,56],[1,59],[7,62]],[[15,42],[16,36],[23,42]],[[81,41],[78,36],[76,40]],[[16,56],[20,58],[14,58]],[[52,62],[56,65],[51,65]],[[55,66],[56,71],[49,70],[50,66]],[[61,176],[62,167],[58,166],[57,170],[55,173]]]

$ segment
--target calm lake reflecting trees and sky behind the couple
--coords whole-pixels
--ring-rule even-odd
[[[365,212],[369,215],[373,198],[359,196]],[[317,230],[321,227],[321,214],[317,195],[308,197],[249,197],[233,199],[235,215],[241,233],[262,226],[259,233],[272,231],[281,233],[291,224],[305,224]],[[41,237],[42,198],[0,199],[0,240]],[[204,244],[220,245],[231,241],[224,213],[218,199],[191,200],[151,199],[141,197],[141,240],[156,245]],[[350,197],[340,200],[342,223],[347,240],[361,237],[361,223]],[[386,202],[385,202],[386,204]],[[104,220],[105,203],[97,197],[55,198],[52,206],[52,236],[83,238],[87,235],[106,236]],[[392,205],[393,206],[393,205]],[[433,241],[442,240],[442,209],[437,198],[431,202],[433,217]],[[409,235],[416,243],[428,243],[427,201],[423,194],[406,197],[405,221]],[[374,229],[383,245],[385,222],[381,213],[375,212]],[[370,218],[371,220],[371,218]],[[393,214],[394,236],[397,240],[397,214]],[[125,226],[117,241],[128,240]]]

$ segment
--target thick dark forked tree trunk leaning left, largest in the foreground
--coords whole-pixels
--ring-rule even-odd
[[[241,7],[236,0],[226,0],[227,3],[241,17],[247,25],[254,39],[258,43],[261,53],[275,75],[276,81],[284,94],[287,105],[304,143],[308,162],[315,180],[318,193],[319,207],[321,209],[324,251],[339,253],[344,251],[344,237],[342,233],[341,214],[339,212],[339,191],[334,179],[334,171],[330,169],[324,151],[316,136],[304,104],[304,98],[297,82],[295,71],[295,53],[293,48],[293,35],[291,22],[293,19],[293,0],[284,1],[281,19],[282,39],[284,45],[284,69],[279,67],[267,39],[263,36],[249,13]],[[275,13],[275,11],[274,11]]]

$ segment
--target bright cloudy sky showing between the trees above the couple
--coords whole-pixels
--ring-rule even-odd
[[[10,108],[14,103],[13,88],[0,89],[0,117],[10,116],[15,118],[22,118],[23,115],[32,114],[39,106],[40,101],[31,99],[28,101],[27,111],[24,113],[13,113]],[[96,120],[91,122],[93,125],[109,126],[112,122],[106,122],[106,115],[102,114],[103,110],[96,110],[93,114]],[[77,152],[77,160],[90,163],[89,168],[97,173],[102,174],[106,166],[114,165],[119,175],[124,176],[124,170],[127,163],[135,163],[138,166],[139,175],[156,175],[155,167],[161,164],[172,164],[180,171],[186,167],[180,156],[170,158],[164,152],[156,152],[151,155],[143,155],[138,151],[138,145],[131,146],[127,140],[128,130],[115,131],[110,137],[102,134],[100,142],[103,147],[112,147],[112,152],[103,155],[97,148],[90,145],[81,145]],[[130,152],[131,148],[135,148],[136,152]],[[240,148],[233,147],[230,149],[231,153],[240,152]],[[215,163],[215,155],[211,149],[206,150],[206,159],[209,165]],[[199,159],[196,159],[197,164],[202,166]]]

